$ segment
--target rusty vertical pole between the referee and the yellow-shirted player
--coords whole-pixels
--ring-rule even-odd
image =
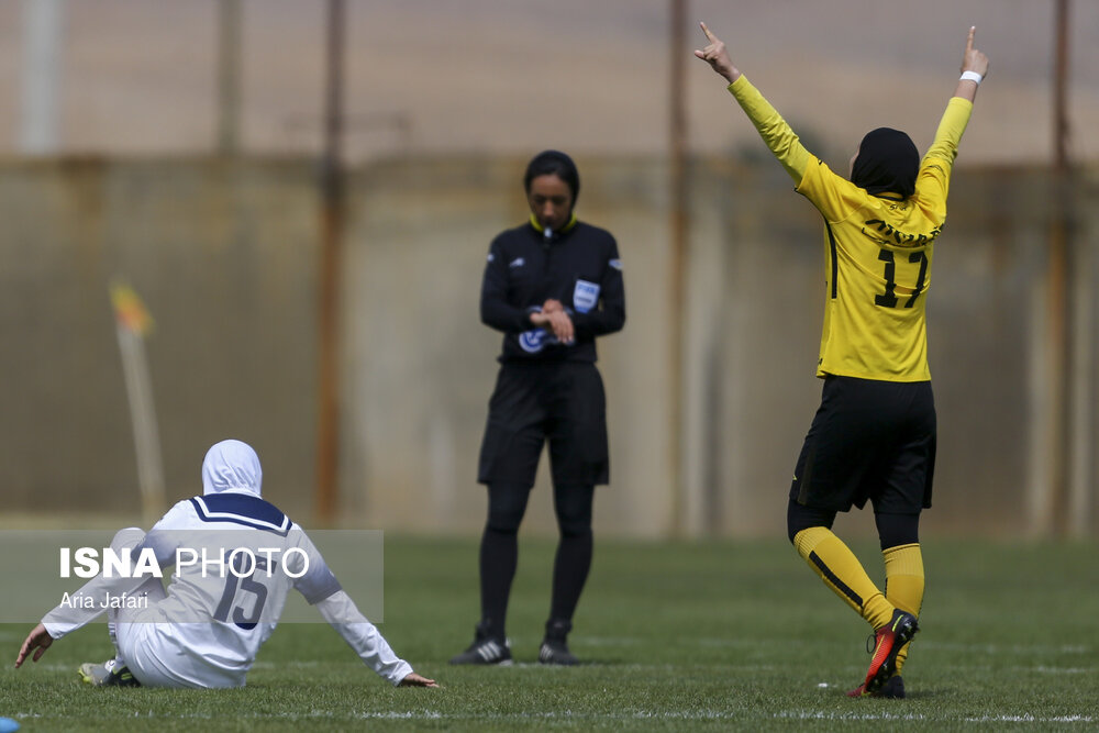
[[[686,477],[684,476],[684,347],[686,340],[685,292],[687,259],[687,114],[686,57],[684,34],[687,25],[686,0],[671,0],[669,79],[669,181],[670,241],[668,266],[668,447],[671,473],[671,531],[681,535],[687,529]]]

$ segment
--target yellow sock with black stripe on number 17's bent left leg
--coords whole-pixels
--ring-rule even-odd
[[[832,530],[823,526],[802,530],[795,535],[793,546],[824,585],[869,621],[874,629],[889,623],[892,603],[886,600],[855,554]]]

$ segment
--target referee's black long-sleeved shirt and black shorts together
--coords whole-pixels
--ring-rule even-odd
[[[548,299],[573,319],[574,343],[531,326],[530,314]],[[595,363],[596,337],[625,322],[614,237],[579,221],[550,237],[534,223],[501,233],[489,251],[480,311],[504,335],[477,480],[530,488],[548,440],[555,485],[607,484],[606,400]]]

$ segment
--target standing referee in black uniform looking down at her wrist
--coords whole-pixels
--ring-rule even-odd
[[[547,177],[553,186],[543,195],[539,181]],[[579,177],[567,155],[540,154],[528,167],[524,184],[531,219],[492,241],[481,285],[481,321],[503,332],[503,345],[477,476],[488,487],[489,499],[479,556],[481,621],[473,645],[451,659],[453,664],[511,664],[504,619],[518,563],[518,532],[546,443],[560,542],[539,660],[576,664],[566,637],[591,566],[595,487],[610,476],[596,338],[625,323],[618,244],[610,232],[571,213]],[[555,186],[557,192],[552,193]],[[551,206],[557,211],[550,211]],[[554,229],[547,216],[556,220]],[[532,314],[544,318],[551,310],[567,314],[569,342],[559,341],[548,325],[532,322]]]

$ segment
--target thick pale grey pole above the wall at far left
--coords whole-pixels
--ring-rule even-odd
[[[23,88],[19,149],[57,152],[60,141],[64,0],[23,0]]]

